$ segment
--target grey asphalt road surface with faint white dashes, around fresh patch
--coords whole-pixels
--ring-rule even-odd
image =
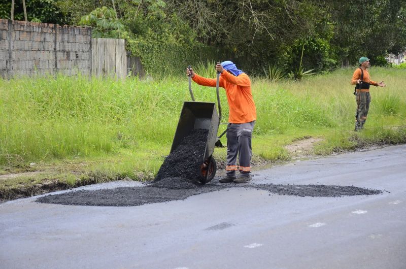
[[[139,207],[0,204],[1,268],[406,268],[406,145],[296,161],[253,183],[383,194],[297,197],[230,188]],[[117,182],[87,188],[139,183]]]

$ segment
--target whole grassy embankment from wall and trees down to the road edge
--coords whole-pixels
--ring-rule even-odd
[[[301,82],[253,78],[258,113],[254,161],[289,160],[283,146],[309,136],[323,139],[316,154],[405,143],[406,71],[370,70],[374,80],[388,86],[371,87],[365,130],[357,133],[352,72],[338,70]],[[215,88],[192,87],[196,100],[216,102]],[[184,100],[190,100],[184,77],[1,80],[0,199],[125,177],[152,179],[170,151]],[[224,121],[223,91],[221,101]],[[225,136],[222,141],[226,144]],[[215,150],[218,161],[225,155],[225,149]],[[5,176],[21,172],[35,173]]]

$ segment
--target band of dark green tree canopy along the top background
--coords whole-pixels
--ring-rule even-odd
[[[0,17],[9,18],[10,1],[2,1]],[[406,48],[403,0],[25,2],[28,20],[91,25],[95,37],[124,37],[131,52],[146,54],[138,55],[146,65],[157,64],[147,59],[155,55],[147,54],[159,51],[180,54],[172,59],[190,57],[188,53],[199,53],[199,59],[232,59],[252,72],[270,65],[286,72],[323,72],[355,64],[360,56],[384,64],[385,54]],[[14,14],[23,18],[22,0],[15,0]]]

